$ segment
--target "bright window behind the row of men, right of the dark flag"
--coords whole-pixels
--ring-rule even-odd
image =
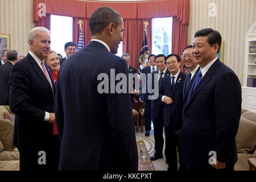
[[[152,53],[169,55],[172,51],[172,18],[152,19]]]

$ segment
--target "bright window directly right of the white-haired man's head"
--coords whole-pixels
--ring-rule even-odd
[[[51,15],[51,50],[65,57],[64,46],[73,41],[72,31],[72,17]]]

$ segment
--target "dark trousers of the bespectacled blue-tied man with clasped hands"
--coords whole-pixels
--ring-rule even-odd
[[[185,165],[181,159],[179,131],[175,132],[169,125],[164,127],[164,133],[166,136],[164,155],[166,155],[168,171],[177,171],[177,151],[179,152],[179,171],[185,171]]]

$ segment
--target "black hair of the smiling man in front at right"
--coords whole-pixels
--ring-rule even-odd
[[[218,52],[221,48],[221,35],[220,32],[217,30],[213,30],[212,28],[204,28],[201,30],[197,30],[195,33],[195,38],[197,36],[207,36],[207,42],[210,44],[210,46],[213,46],[214,44],[218,44]],[[217,52],[217,53],[218,53]]]

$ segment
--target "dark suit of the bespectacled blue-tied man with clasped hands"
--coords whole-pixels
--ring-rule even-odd
[[[166,162],[168,169],[177,171],[177,150],[179,147],[179,130],[182,126],[182,108],[183,108],[183,85],[185,73],[180,72],[176,78],[174,90],[171,90],[171,75],[163,78],[159,88],[159,98],[163,96],[171,97],[173,102],[170,105],[164,103],[164,131],[166,134]],[[162,102],[162,101],[161,101]],[[180,159],[180,158],[179,158]],[[183,167],[182,160],[179,160],[180,167]],[[180,169],[181,169],[180,168]]]

